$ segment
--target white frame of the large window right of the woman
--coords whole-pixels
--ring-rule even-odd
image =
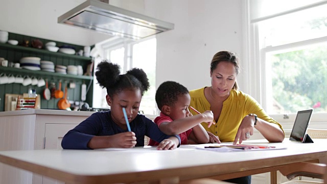
[[[292,51],[300,47],[306,47],[308,45],[312,44],[319,44],[323,42],[327,42],[327,36],[320,37],[320,38],[314,38],[314,39],[308,39],[283,45],[277,45],[273,47],[267,47],[260,49],[260,42],[259,42],[259,28],[258,28],[258,22],[264,21],[270,18],[274,18],[277,16],[283,16],[290,13],[295,13],[298,11],[307,10],[309,8],[314,8],[318,6],[322,6],[327,4],[327,1],[321,1],[314,4],[309,4],[307,6],[298,7],[292,10],[264,16],[261,18],[252,19],[250,18],[250,1],[247,0],[243,2],[243,7],[245,9],[243,13],[244,17],[244,59],[243,59],[243,69],[245,76],[243,78],[243,83],[248,83],[247,81],[251,81],[250,85],[244,86],[244,91],[248,94],[250,94],[254,99],[256,99],[264,109],[268,109],[268,106],[271,104],[268,100],[268,94],[269,90],[272,90],[269,86],[269,83],[271,84],[271,81],[267,82],[269,80],[268,75],[266,75],[267,68],[269,67],[266,62],[266,54],[270,53],[278,53],[280,51]],[[269,87],[268,87],[269,86]],[[269,96],[271,97],[271,96]],[[292,116],[296,113],[290,113]],[[314,117],[317,117],[319,120],[325,119],[327,113],[314,113]],[[281,117],[284,117],[283,114],[270,114],[272,118],[277,119],[284,119]]]

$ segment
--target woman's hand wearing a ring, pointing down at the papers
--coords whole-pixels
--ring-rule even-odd
[[[250,138],[250,135],[253,135],[254,128],[254,118],[252,116],[245,116],[237,130],[235,140],[233,145],[237,144],[237,141],[241,144],[243,141],[246,141]]]

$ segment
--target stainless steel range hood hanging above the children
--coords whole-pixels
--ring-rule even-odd
[[[130,38],[145,38],[174,29],[174,24],[119,7],[87,0],[58,17],[58,23]]]

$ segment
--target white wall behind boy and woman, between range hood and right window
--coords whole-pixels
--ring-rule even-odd
[[[215,53],[229,50],[242,58],[240,0],[145,0],[145,14],[175,24],[174,30],[156,36],[156,86],[166,80],[189,90],[209,86]]]

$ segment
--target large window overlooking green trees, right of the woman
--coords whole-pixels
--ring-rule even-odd
[[[259,51],[253,55],[262,71],[259,99],[271,114],[310,108],[314,113],[327,112],[327,2],[298,3],[307,4],[283,1],[285,7],[296,8],[276,12],[279,4],[275,3],[269,6],[275,14],[250,18],[257,40],[251,47]]]

